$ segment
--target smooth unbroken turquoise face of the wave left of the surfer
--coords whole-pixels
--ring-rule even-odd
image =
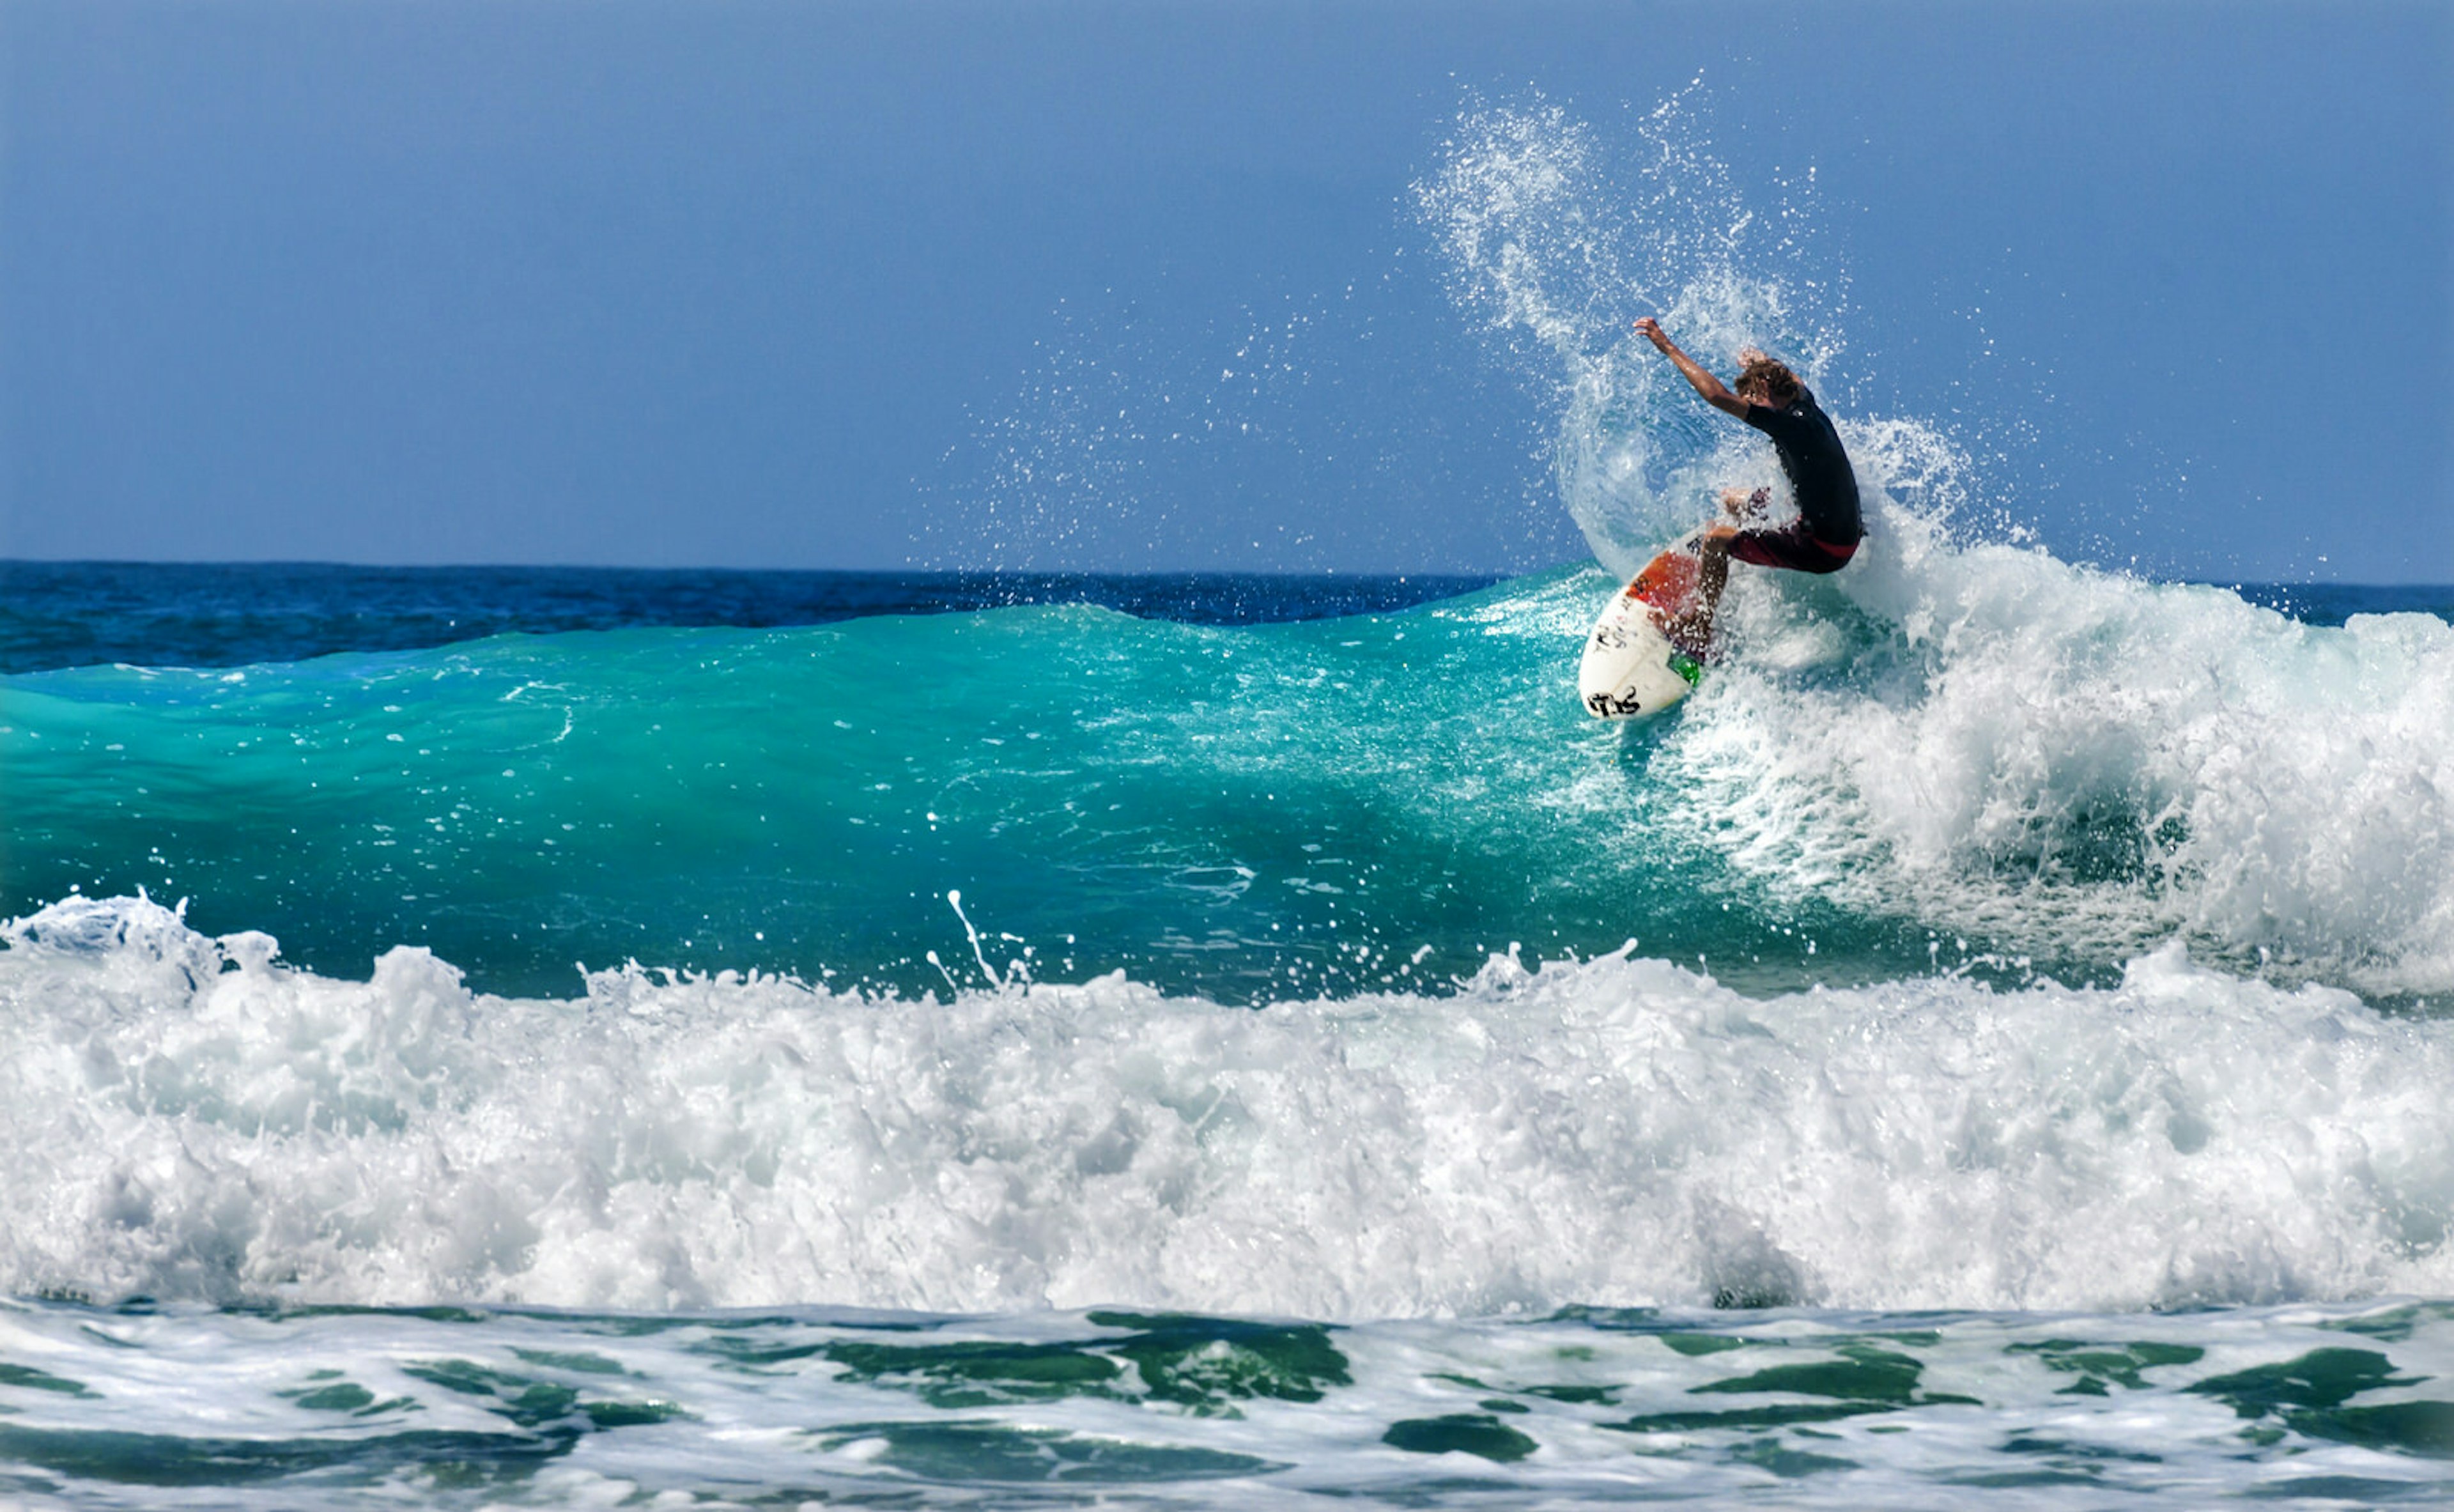
[[[1573,697],[1600,574],[1200,628],[1090,606],[503,636],[5,692],[5,906],[189,896],[317,970],[432,945],[940,987],[987,965],[1261,999],[1627,938],[1779,977],[1924,938],[1740,886],[1661,736]],[[962,896],[962,916],[947,896]],[[1838,957],[1833,955],[1838,952]],[[1890,962],[1890,965],[1885,965]],[[1841,967],[1843,972],[1848,967]]]

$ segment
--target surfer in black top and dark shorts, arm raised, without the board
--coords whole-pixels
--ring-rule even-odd
[[[1764,508],[1762,488],[1745,498],[1737,488],[1723,493],[1723,508],[1733,520],[1706,525],[1696,542],[1696,606],[1661,626],[1671,641],[1701,650],[1713,641],[1713,611],[1730,582],[1730,557],[1789,572],[1841,572],[1858,555],[1858,542],[1865,538],[1865,525],[1858,520],[1858,474],[1841,447],[1841,432],[1787,366],[1747,346],[1737,353],[1733,388],[1679,351],[1654,317],[1639,319],[1637,334],[1671,358],[1708,405],[1772,437],[1782,474],[1799,501],[1799,518],[1772,530],[1747,523]]]

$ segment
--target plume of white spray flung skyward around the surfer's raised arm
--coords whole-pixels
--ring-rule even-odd
[[[1848,277],[1814,238],[1814,174],[1757,211],[1703,142],[1693,83],[1610,142],[1539,96],[1470,101],[1414,184],[1455,304],[1556,412],[1558,493],[1622,579],[1713,511],[1774,486],[1769,452],[1688,390],[1629,326],[1654,314],[1708,366],[1762,346],[1836,376]]]

